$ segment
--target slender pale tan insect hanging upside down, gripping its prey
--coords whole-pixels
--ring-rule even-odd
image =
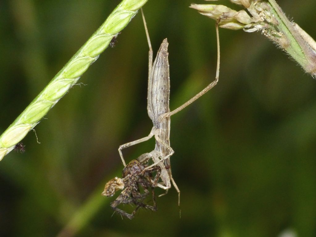
[[[149,118],[153,121],[153,128],[151,129],[148,136],[141,139],[137,139],[132,142],[125,143],[119,146],[119,154],[122,159],[124,166],[126,167],[125,160],[123,158],[122,150],[126,147],[136,145],[144,142],[155,136],[156,145],[155,150],[150,153],[145,153],[138,157],[138,160],[143,163],[149,159],[152,159],[152,164],[146,167],[142,172],[155,167],[157,165],[161,168],[161,180],[162,182],[157,183],[157,187],[166,190],[171,187],[171,182],[179,194],[178,204],[180,205],[180,190],[173,180],[171,173],[170,157],[174,151],[170,146],[170,116],[184,109],[186,106],[194,102],[197,98],[208,92],[213,88],[219,77],[219,64],[220,64],[220,48],[219,48],[219,35],[218,25],[216,24],[216,39],[217,39],[217,67],[216,77],[213,82],[206,86],[201,92],[195,95],[193,98],[182,104],[177,109],[170,112],[169,109],[169,92],[170,92],[170,76],[169,76],[169,62],[168,62],[168,42],[164,39],[160,49],[158,50],[157,56],[153,63],[153,50],[151,47],[149,33],[146,26],[145,17],[143,14],[143,22],[146,31],[147,41],[149,45],[149,74],[148,74],[148,97],[147,97],[147,112]]]

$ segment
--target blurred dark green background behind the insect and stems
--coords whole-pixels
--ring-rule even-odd
[[[214,21],[191,2],[144,6],[154,54],[169,41],[171,110],[215,77]],[[0,133],[118,3],[0,2]],[[316,38],[314,0],[278,3]],[[260,33],[220,29],[220,41],[218,85],[171,119],[181,218],[174,188],[157,198],[157,212],[133,220],[112,216],[115,198],[100,195],[121,175],[118,146],[152,127],[137,14],[83,74],[86,86],[74,86],[36,126],[40,144],[30,132],[26,152],[0,162],[0,236],[316,236],[316,81]],[[151,139],[124,155],[153,148]]]

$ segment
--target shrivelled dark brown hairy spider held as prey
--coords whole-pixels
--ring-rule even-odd
[[[161,168],[160,166],[153,166],[150,169],[144,170],[146,165],[143,165],[137,160],[132,160],[126,165],[122,171],[122,179],[115,177],[108,181],[102,192],[103,196],[112,197],[116,191],[119,189],[123,190],[121,194],[111,203],[111,207],[114,211],[132,219],[136,211],[143,207],[152,211],[156,211],[156,199],[154,187],[157,186],[158,179],[160,177]],[[154,181],[151,180],[152,173],[157,171]],[[143,188],[144,192],[141,193],[139,185]],[[143,200],[149,194],[149,188],[152,190],[153,206],[143,203]],[[123,210],[117,208],[119,204],[135,204],[136,208],[131,213],[128,214]]]

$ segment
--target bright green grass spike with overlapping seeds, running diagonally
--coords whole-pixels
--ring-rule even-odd
[[[148,0],[123,0],[106,21],[56,74],[40,94],[0,136],[0,160],[35,127],[47,112],[77,83]]]

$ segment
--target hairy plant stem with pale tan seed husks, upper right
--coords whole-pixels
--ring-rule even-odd
[[[209,1],[209,0],[207,0]],[[296,23],[291,22],[275,0],[230,0],[242,4],[248,11],[235,11],[224,5],[191,4],[202,15],[219,23],[219,27],[255,32],[261,30],[263,35],[278,44],[301,67],[316,77],[316,42]]]

